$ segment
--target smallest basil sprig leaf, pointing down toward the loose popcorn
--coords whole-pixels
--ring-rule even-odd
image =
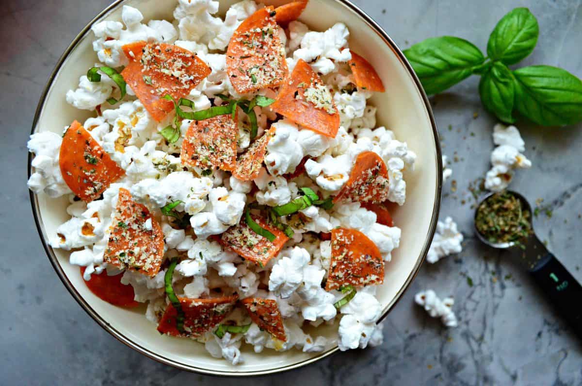
[[[513,123],[514,82],[509,68],[495,62],[489,71],[481,76],[479,95],[483,106],[503,122]]]

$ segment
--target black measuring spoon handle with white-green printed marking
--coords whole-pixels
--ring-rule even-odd
[[[548,252],[542,263],[530,271],[562,317],[582,338],[582,286],[565,266]]]

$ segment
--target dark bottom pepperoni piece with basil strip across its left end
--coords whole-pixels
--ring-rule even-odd
[[[177,320],[178,311],[168,304],[164,315],[158,324],[158,331],[161,334],[172,336],[200,336],[211,331],[232,311],[238,295],[215,297],[212,299],[191,299],[189,297],[179,297],[180,305],[184,311],[184,333],[178,331]]]

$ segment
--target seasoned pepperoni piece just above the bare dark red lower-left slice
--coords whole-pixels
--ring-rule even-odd
[[[133,201],[125,188],[119,189],[111,227],[104,260],[121,269],[156,275],[164,259],[164,233],[150,210]]]

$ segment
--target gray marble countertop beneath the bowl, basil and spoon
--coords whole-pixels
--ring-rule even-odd
[[[559,65],[582,76],[580,2],[356,1],[402,48],[449,34],[484,49],[499,18],[514,6],[527,6],[538,17],[541,36],[524,64]],[[453,192],[451,181],[445,184],[441,219],[450,215],[459,223],[466,236],[463,252],[421,268],[386,318],[382,346],[339,353],[281,375],[217,379],[147,359],[101,329],[66,291],[38,241],[26,190],[26,141],[38,98],[58,57],[108,3],[2,1],[0,383],[582,385],[580,341],[519,266],[473,236],[470,206],[474,201],[467,187],[488,170],[496,123],[480,104],[476,78],[432,99],[443,153],[453,161],[452,179],[457,185]],[[542,129],[522,124],[519,128],[533,168],[519,171],[512,187],[532,202],[544,199],[542,205],[552,215],[542,211],[535,219],[537,233],[582,280],[582,125]],[[455,297],[458,328],[443,328],[414,305],[414,293],[426,288]]]

